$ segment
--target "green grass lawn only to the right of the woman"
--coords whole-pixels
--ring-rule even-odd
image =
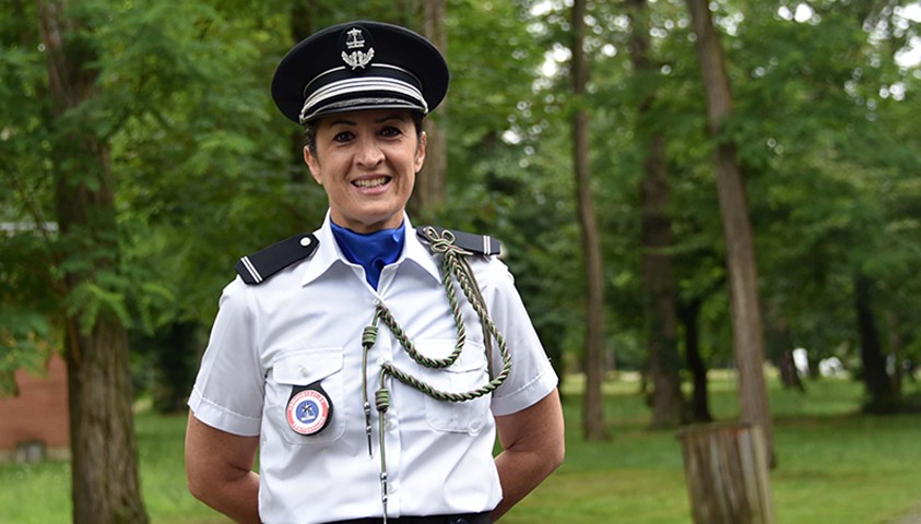
[[[737,416],[732,377],[711,379],[710,407]],[[921,414],[858,415],[862,386],[850,380],[807,382],[805,395],[769,382],[778,467],[771,473],[779,524],[883,524],[921,503]],[[578,381],[564,386],[577,392]],[[647,429],[638,384],[606,384],[611,439],[581,440],[579,398],[567,397],[564,466],[519,504],[506,524],[690,521],[681,444],[675,431]],[[909,383],[907,394],[921,393]]]

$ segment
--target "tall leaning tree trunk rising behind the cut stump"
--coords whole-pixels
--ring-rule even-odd
[[[697,53],[707,92],[710,133],[717,139],[732,114],[725,59],[707,0],[687,0]],[[764,335],[758,299],[758,271],[745,187],[736,160],[735,143],[720,139],[716,150],[717,192],[723,223],[727,272],[732,299],[732,331],[735,365],[739,369],[740,404],[743,421],[761,427],[768,463],[774,467],[774,424],[768,408],[764,376]]]

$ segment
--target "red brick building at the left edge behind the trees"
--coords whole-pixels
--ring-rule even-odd
[[[42,377],[20,370],[20,395],[0,397],[0,462],[70,456],[67,365],[55,355],[46,369]]]

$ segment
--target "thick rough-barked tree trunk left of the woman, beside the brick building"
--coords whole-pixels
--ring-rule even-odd
[[[80,23],[67,2],[38,1],[48,57],[55,126],[96,95],[95,52],[80,40]],[[75,39],[69,39],[76,36]],[[64,275],[67,288],[102,285],[118,271],[114,180],[107,145],[85,122],[67,122],[55,144],[56,201],[63,257],[79,258]],[[138,479],[133,401],[125,326],[111,313],[69,309],[64,349],[71,419],[73,522],[145,523]]]

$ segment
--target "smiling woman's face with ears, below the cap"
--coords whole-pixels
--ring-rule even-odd
[[[329,196],[332,222],[355,233],[399,227],[425,160],[425,134],[404,110],[353,111],[316,124],[317,148],[304,148],[310,175]]]

